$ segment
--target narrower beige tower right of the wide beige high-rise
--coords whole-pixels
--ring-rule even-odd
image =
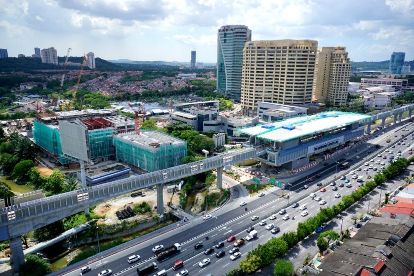
[[[351,63],[345,47],[320,47],[316,52],[312,97],[331,106],[344,106],[348,98]]]

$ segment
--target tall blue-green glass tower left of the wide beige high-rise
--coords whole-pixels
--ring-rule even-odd
[[[251,30],[244,25],[221,26],[217,32],[217,92],[240,101],[243,48],[251,40]]]

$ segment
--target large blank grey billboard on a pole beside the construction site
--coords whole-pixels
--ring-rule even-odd
[[[62,153],[75,159],[88,161],[87,129],[68,121],[59,121]]]

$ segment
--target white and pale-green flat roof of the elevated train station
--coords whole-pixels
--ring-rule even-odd
[[[250,126],[239,131],[250,136],[256,136],[258,139],[285,142],[369,118],[373,118],[373,116],[359,113],[328,111],[288,118],[263,125]]]

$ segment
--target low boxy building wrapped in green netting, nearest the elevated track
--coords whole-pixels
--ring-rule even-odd
[[[117,149],[117,160],[124,161],[146,171],[157,171],[181,164],[181,159],[187,156],[187,142],[172,138],[165,133],[158,131],[143,131],[148,137],[164,136],[169,138],[171,143],[157,143],[154,139],[147,138],[147,143],[139,140],[140,136],[135,133],[127,133],[114,137],[114,145]],[[129,136],[129,137],[127,137]],[[133,137],[130,138],[130,137]],[[126,139],[130,138],[130,139]]]

